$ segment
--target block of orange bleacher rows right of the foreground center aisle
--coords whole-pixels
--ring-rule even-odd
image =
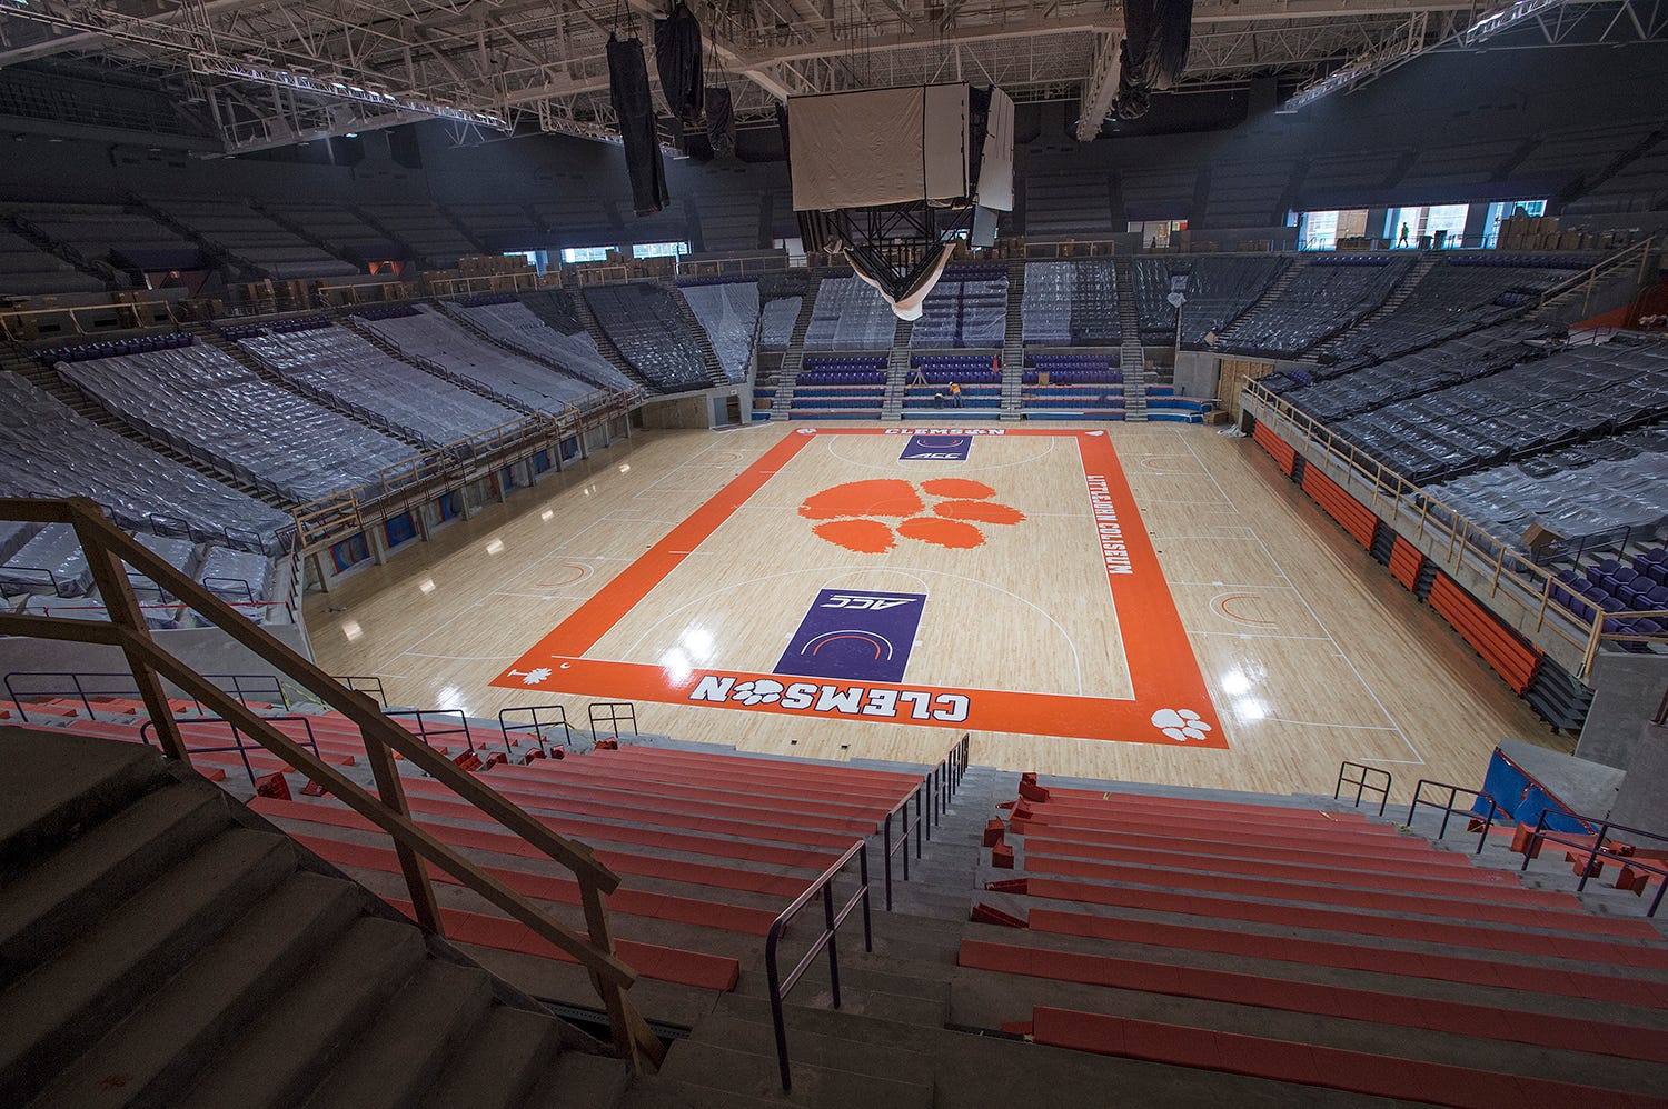
[[[986,846],[1014,877],[986,882],[957,962],[1026,982],[992,992],[1026,1006],[1007,1032],[1443,1106],[1668,1104],[1641,1077],[1668,1064],[1668,946],[1646,921],[1354,812],[1034,775],[1002,809]]]

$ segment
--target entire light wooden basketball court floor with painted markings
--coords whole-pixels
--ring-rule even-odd
[[[1268,792],[1573,747],[1249,440],[882,430],[639,432],[312,594],[315,657],[477,717],[594,694],[749,750],[936,762],[971,730],[976,762]]]

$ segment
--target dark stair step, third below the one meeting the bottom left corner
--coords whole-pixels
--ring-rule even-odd
[[[400,1109],[427,1091],[485,1016],[492,981],[479,967],[429,959],[314,1091],[309,1109]]]

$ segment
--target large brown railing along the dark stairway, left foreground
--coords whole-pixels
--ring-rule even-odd
[[[634,1066],[659,1064],[666,1054],[664,1044],[654,1036],[626,994],[637,974],[614,952],[604,897],[619,889],[620,879],[597,861],[589,846],[557,836],[479,777],[464,772],[449,759],[430,750],[420,739],[382,715],[380,707],[369,695],[344,689],[314,662],[252,625],[235,609],[117,529],[93,500],[87,497],[67,500],[0,499],[0,520],[73,525],[110,614],[108,622],[92,622],[0,612],[0,635],[118,647],[132,669],[133,682],[153,722],[163,755],[190,765],[190,750],[180,734],[178,722],[168,710],[162,682],[168,680],[183,689],[222,719],[237,724],[250,739],[282,757],[297,772],[305,774],[315,785],[334,794],[354,812],[387,832],[394,839],[394,849],[410,894],[412,914],[427,932],[444,936],[440,907],[427,871],[427,866],[437,866],[480,894],[489,904],[532,929],[535,936],[572,956],[590,972],[592,984],[607,1007],[619,1054]],[[357,724],[375,775],[377,792],[367,790],[337,767],[317,759],[224,689],[158,647],[150,629],[145,627],[143,614],[138,612],[138,602],[133,599],[123,562],[190,604],[257,659],[312,692],[320,704]],[[545,909],[412,820],[400,772],[394,762],[395,754],[567,867],[579,884],[585,932],[562,924]]]

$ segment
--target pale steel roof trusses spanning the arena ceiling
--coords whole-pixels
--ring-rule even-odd
[[[1431,50],[1651,40],[1668,0],[1196,0],[1178,92],[1279,77],[1299,105]],[[460,142],[519,128],[605,137],[604,45],[644,40],[656,0],[0,0],[0,68],[55,55],[147,68],[227,153],[440,118]],[[791,95],[926,82],[1114,107],[1121,0],[691,0],[707,80],[741,123]],[[1595,15],[1598,13],[1598,15]],[[651,65],[651,72],[652,72]]]

